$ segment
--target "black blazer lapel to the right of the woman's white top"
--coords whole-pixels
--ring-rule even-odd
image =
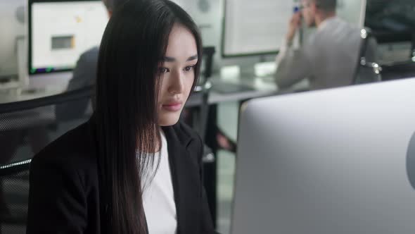
[[[170,170],[174,190],[174,202],[177,210],[177,233],[198,233],[199,209],[198,204],[200,181],[196,156],[189,152],[193,139],[174,130],[174,127],[163,128],[167,139]]]

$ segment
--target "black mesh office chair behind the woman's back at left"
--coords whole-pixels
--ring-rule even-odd
[[[87,87],[50,97],[0,104],[0,233],[25,233],[29,169],[34,154],[87,121],[91,114],[87,111],[74,118],[59,119],[56,118],[56,105],[89,101],[91,94],[91,87]]]

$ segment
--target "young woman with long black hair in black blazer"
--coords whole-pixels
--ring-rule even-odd
[[[203,144],[178,122],[201,48],[172,1],[129,1],[113,13],[94,115],[32,161],[27,233],[215,233]]]

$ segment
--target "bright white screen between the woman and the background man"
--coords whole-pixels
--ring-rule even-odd
[[[222,56],[276,54],[288,20],[293,14],[293,1],[226,0],[222,34]]]

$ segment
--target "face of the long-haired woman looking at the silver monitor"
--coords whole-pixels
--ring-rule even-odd
[[[160,73],[158,94],[158,125],[174,125],[189,97],[198,63],[198,49],[193,34],[184,26],[174,25],[170,32],[165,58]]]

